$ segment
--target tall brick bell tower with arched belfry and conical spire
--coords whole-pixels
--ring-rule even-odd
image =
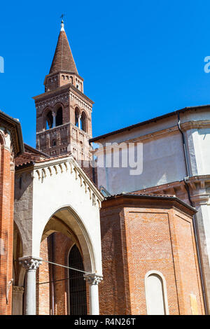
[[[90,160],[94,102],[83,92],[83,78],[78,75],[63,20],[44,85],[45,92],[33,97],[36,148],[52,157],[71,152],[77,160]]]

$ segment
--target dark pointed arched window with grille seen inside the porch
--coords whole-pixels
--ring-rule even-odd
[[[69,253],[69,267],[84,271],[83,258],[76,244]],[[83,272],[69,269],[69,309],[71,315],[87,314],[86,284]]]

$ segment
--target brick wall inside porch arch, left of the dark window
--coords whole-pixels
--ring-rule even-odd
[[[53,235],[53,237],[52,237]],[[41,242],[41,258],[50,260],[61,265],[68,266],[69,251],[73,246],[73,241],[55,232]],[[53,248],[53,251],[52,251]],[[53,254],[53,258],[52,258]],[[36,314],[38,315],[67,315],[69,314],[69,281],[63,280],[69,277],[69,270],[64,267],[50,265],[46,262],[37,271],[37,283],[55,281],[53,283],[37,284],[36,286]],[[61,280],[61,281],[59,281]],[[87,311],[88,287],[87,290]]]

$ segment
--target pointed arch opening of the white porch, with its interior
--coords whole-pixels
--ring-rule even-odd
[[[37,314],[85,315],[94,311],[98,300],[91,300],[95,294],[88,292],[85,278],[88,276],[91,285],[94,274],[92,282],[97,288],[94,248],[83,221],[71,207],[62,207],[50,217],[41,237],[40,256],[43,264],[36,274]]]

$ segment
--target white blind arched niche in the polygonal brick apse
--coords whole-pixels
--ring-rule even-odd
[[[165,277],[158,271],[150,271],[145,276],[147,315],[169,314]]]

